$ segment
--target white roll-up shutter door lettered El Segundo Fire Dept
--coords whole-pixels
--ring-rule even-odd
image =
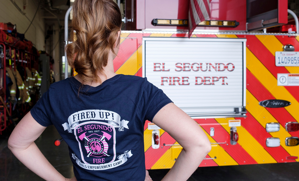
[[[147,77],[193,117],[243,117],[246,39],[143,38]]]

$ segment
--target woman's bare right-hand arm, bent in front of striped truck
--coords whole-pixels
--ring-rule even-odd
[[[165,105],[152,122],[167,131],[182,147],[173,168],[162,181],[186,181],[210,152],[211,144],[199,125],[174,103]]]

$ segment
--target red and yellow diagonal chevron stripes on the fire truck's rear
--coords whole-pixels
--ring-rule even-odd
[[[142,76],[142,37],[187,37],[187,34],[173,33],[122,33],[121,47],[118,57],[114,60],[116,73]],[[295,46],[299,51],[299,38],[283,35],[214,35],[195,34],[193,37],[209,38],[246,38],[247,39],[247,117],[241,119],[242,126],[238,127],[239,141],[230,145],[230,128],[228,120],[235,118],[196,119],[212,144],[211,152],[199,166],[224,166],[262,163],[296,162],[288,160],[287,156],[299,156],[299,146],[285,146],[284,140],[289,136],[299,137],[299,131],[287,132],[284,127],[287,122],[299,121],[299,94],[296,86],[277,86],[277,74],[299,74],[299,67],[276,67],[275,52],[283,51],[283,45]],[[265,108],[258,103],[263,100],[281,99],[292,104],[283,108]],[[266,124],[280,124],[278,132],[268,133]],[[147,127],[144,130],[144,149],[147,169],[171,168],[182,147],[163,146],[177,144],[164,130],[160,130],[160,148],[152,149],[152,132]],[[209,135],[213,127],[215,135]],[[281,146],[270,148],[266,139],[278,137]]]

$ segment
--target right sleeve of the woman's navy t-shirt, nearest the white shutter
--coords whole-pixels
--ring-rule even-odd
[[[145,120],[150,122],[160,109],[169,103],[173,103],[161,89],[150,83],[147,78],[145,78],[142,101],[142,115],[145,115]]]

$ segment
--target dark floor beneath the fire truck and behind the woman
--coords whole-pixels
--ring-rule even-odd
[[[74,177],[73,166],[68,155],[68,146],[62,142],[54,127],[47,128],[36,140],[36,144],[50,163],[65,177]],[[149,170],[153,181],[161,181],[168,172]],[[188,181],[299,181],[299,163],[276,163],[259,165],[238,165],[224,167],[200,167]],[[7,137],[0,136],[0,181],[43,181],[27,169],[7,148]]]

